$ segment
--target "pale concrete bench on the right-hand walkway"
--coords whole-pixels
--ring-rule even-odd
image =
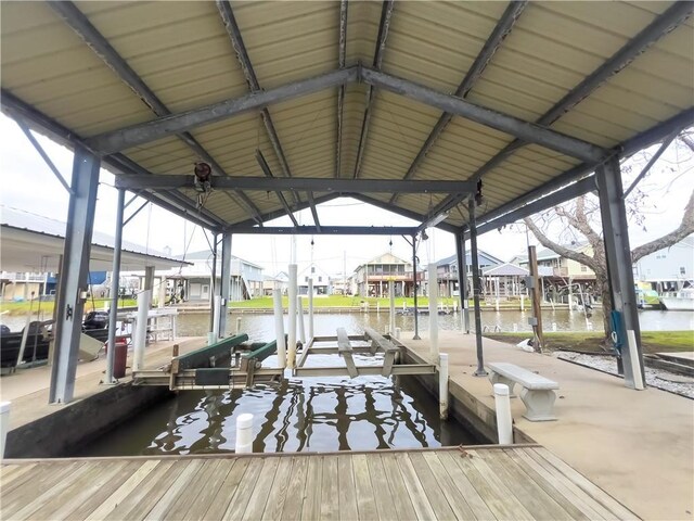
[[[556,420],[554,416],[554,401],[556,399],[555,389],[560,384],[528,371],[522,367],[506,363],[488,364],[490,369],[489,380],[494,383],[509,385],[509,393],[513,395],[513,387],[516,383],[523,386],[520,399],[525,404],[526,412],[524,418],[530,421]]]

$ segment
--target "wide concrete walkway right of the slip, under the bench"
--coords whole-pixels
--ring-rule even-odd
[[[424,333],[426,334],[426,333]],[[422,336],[424,336],[422,334]],[[424,358],[427,339],[400,342]],[[439,332],[450,356],[451,393],[493,410],[491,383],[474,377],[474,334]],[[507,361],[560,383],[557,421],[530,422],[512,399],[515,427],[644,519],[694,519],[694,402],[657,389],[633,391],[621,379],[485,339],[485,363]]]

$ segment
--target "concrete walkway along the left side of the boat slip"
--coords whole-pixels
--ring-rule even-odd
[[[202,338],[179,338],[176,341],[157,342],[145,350],[145,365],[157,367],[171,358],[171,347],[179,344],[180,353],[187,353],[205,344]],[[130,381],[132,367],[132,352],[128,353],[126,377],[121,382]],[[106,355],[102,352],[93,361],[80,361],[77,365],[77,378],[75,380],[75,395],[70,404],[93,396],[108,386],[100,385],[106,369]],[[49,405],[49,389],[51,383],[51,368],[48,366],[30,369],[17,369],[12,374],[0,378],[0,401],[12,402],[10,411],[10,430],[36,421],[47,415],[55,412],[60,407],[67,405]]]

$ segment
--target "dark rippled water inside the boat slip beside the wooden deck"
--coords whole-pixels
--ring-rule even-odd
[[[244,391],[180,392],[80,456],[230,452],[236,418],[245,412],[254,415],[256,453],[476,443],[454,420],[439,420],[438,404],[411,377],[307,378]]]

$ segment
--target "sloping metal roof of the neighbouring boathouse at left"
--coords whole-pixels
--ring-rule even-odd
[[[3,271],[60,271],[60,257],[65,243],[65,223],[2,206],[0,212],[0,270]],[[89,266],[92,270],[111,270],[114,239],[94,231]],[[190,265],[185,260],[167,257],[163,253],[125,242],[121,262],[124,270],[139,270],[146,266],[156,269]]]

